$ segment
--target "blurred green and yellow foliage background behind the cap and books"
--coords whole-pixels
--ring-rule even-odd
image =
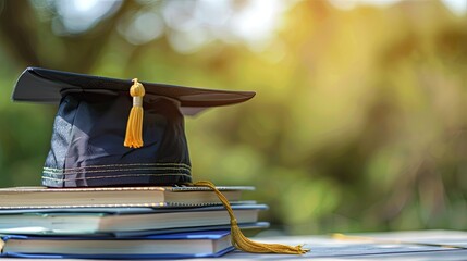
[[[187,119],[193,173],[255,185],[248,197],[283,233],[467,229],[466,14],[439,1],[291,1],[258,47],[195,41],[202,30],[179,28],[195,1],[118,2],[87,27],[67,25],[59,2],[0,0],[1,186],[40,184],[56,107],[9,98],[35,65],[257,91]],[[228,2],[242,18],[249,1]],[[162,32],[138,33],[138,17]]]

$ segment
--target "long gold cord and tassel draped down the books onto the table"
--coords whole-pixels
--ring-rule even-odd
[[[309,249],[302,248],[303,247],[302,245],[293,247],[293,246],[287,246],[282,244],[257,243],[251,239],[248,239],[243,235],[242,231],[239,229],[237,221],[233,213],[232,207],[229,203],[229,200],[225,198],[225,196],[222,195],[222,192],[219,191],[211,182],[202,181],[202,182],[197,182],[194,185],[211,188],[218,196],[219,200],[221,200],[222,204],[225,207],[231,217],[231,235],[232,235],[231,240],[232,240],[232,245],[235,248],[243,250],[245,252],[253,252],[253,253],[303,254],[309,251]]]

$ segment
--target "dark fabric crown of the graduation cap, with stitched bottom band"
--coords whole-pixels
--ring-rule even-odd
[[[51,148],[42,172],[48,187],[170,185],[192,182],[184,119],[163,97],[144,102],[144,140],[123,147],[125,96],[69,94],[53,124]]]

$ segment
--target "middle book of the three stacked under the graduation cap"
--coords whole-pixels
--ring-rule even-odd
[[[232,206],[238,224],[256,223],[265,204]],[[24,235],[91,235],[116,234],[188,227],[229,225],[230,216],[222,206],[200,208],[108,208],[100,212],[50,209],[40,212],[0,211],[0,233]]]

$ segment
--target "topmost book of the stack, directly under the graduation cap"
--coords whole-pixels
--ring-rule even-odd
[[[247,186],[218,188],[229,201],[237,201],[243,190],[254,189],[254,187]],[[206,187],[13,187],[0,189],[0,209],[161,207],[220,203],[216,194]]]

